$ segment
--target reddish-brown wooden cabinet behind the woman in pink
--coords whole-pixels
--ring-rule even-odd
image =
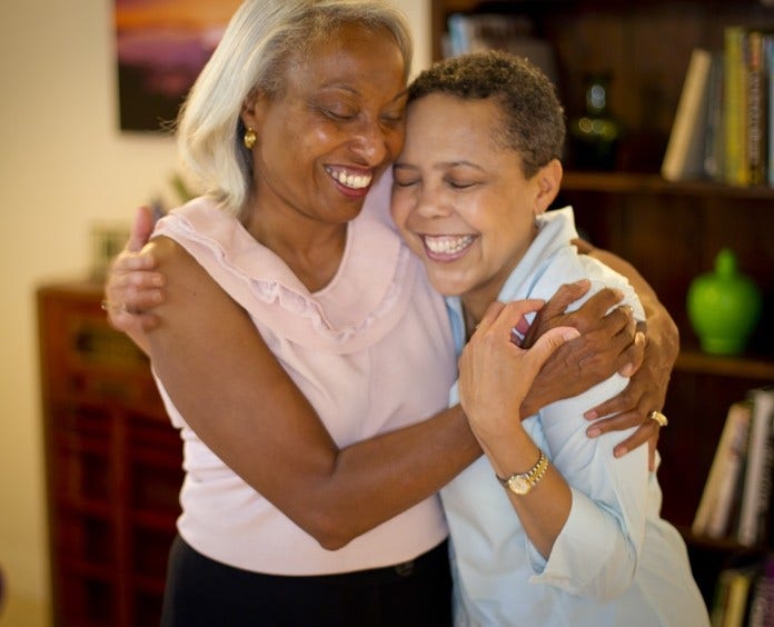
[[[158,625],[181,445],[101,286],[38,291],[54,624]]]

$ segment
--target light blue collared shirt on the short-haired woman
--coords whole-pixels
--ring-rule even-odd
[[[578,255],[573,210],[550,211],[498,300],[550,298],[562,283],[617,287],[635,317],[642,305],[626,279]],[[586,298],[588,298],[587,295]],[[578,305],[574,305],[579,306]],[[458,298],[447,298],[457,352],[465,344]],[[569,484],[569,518],[549,558],[529,541],[486,457],[441,490],[452,534],[456,624],[460,626],[706,626],[685,543],[659,517],[662,494],[647,447],[623,458],[614,446],[631,431],[588,438],[583,412],[615,396],[615,375],[580,396],[545,407],[524,427]],[[452,404],[458,401],[457,386]]]

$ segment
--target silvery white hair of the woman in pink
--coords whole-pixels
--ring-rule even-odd
[[[242,143],[240,113],[251,92],[276,96],[287,60],[305,54],[343,24],[387,29],[411,66],[411,39],[404,16],[384,0],[246,0],[199,74],[177,123],[183,165],[205,193],[238,216],[252,186],[252,157]]]

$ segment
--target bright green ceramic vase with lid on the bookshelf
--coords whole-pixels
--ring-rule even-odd
[[[736,256],[724,248],[715,271],[696,277],[687,295],[688,319],[702,350],[742,352],[761,316],[761,290],[736,268]]]

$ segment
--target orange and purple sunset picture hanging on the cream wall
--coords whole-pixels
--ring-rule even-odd
[[[172,122],[240,0],[115,0],[121,130]]]

